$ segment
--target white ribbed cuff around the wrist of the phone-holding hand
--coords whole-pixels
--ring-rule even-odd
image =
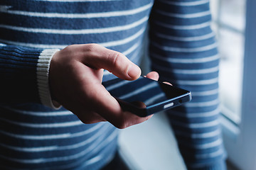
[[[54,109],[60,108],[60,104],[56,101],[53,101],[50,96],[48,75],[50,69],[50,60],[57,51],[57,49],[43,50],[39,56],[36,68],[36,77],[38,82],[38,91],[41,103],[45,106]]]

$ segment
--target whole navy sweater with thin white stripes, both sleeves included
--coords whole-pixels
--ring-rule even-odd
[[[208,0],[1,0],[1,169],[100,169],[118,130],[85,125],[56,110],[51,57],[72,44],[98,43],[142,62],[149,26],[151,68],[192,91],[168,114],[188,169],[225,169],[218,123],[218,51]],[[105,72],[104,80],[112,74]],[[170,141],[172,142],[172,141]]]

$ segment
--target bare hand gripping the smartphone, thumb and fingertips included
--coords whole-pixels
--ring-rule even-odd
[[[50,62],[51,95],[83,123],[109,121],[117,128],[127,128],[148,120],[151,116],[140,118],[122,111],[102,86],[103,69],[127,80],[141,74],[139,67],[120,52],[97,44],[70,45],[56,52]],[[147,77],[158,79],[158,74],[153,72]]]

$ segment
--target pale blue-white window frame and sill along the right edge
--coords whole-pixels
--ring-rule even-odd
[[[228,160],[238,169],[256,169],[256,1],[246,1],[245,55],[242,82],[242,107],[239,125],[224,114],[220,117],[223,125],[223,142]]]

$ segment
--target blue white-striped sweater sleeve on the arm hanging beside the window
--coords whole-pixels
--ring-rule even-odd
[[[151,68],[162,81],[192,94],[191,102],[167,113],[188,169],[225,169],[218,121],[219,56],[210,21],[205,0],[159,0],[151,11]]]

